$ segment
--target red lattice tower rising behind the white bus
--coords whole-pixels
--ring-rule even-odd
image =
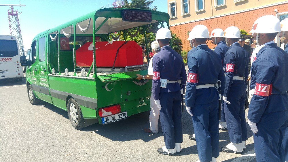
[[[19,23],[19,18],[18,18],[18,10],[13,10],[13,9],[14,9],[14,6],[26,6],[26,5],[0,4],[0,6],[10,6],[11,10],[8,10],[10,34],[15,36],[16,39],[18,39],[20,52],[21,54],[24,54],[24,45],[23,45],[22,33],[21,33],[20,23]]]

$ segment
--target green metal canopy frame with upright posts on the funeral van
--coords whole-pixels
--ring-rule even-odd
[[[92,34],[93,36],[93,62],[92,62],[92,65],[90,66],[89,68],[89,71],[88,71],[88,74],[86,77],[83,77],[83,78],[87,78],[90,74],[90,72],[92,71],[92,67],[93,67],[93,71],[94,71],[94,74],[93,74],[93,78],[95,78],[96,80],[96,57],[95,57],[95,35],[98,35],[98,34],[106,34],[107,35],[107,39],[108,41],[110,41],[109,39],[109,36],[108,34],[110,33],[97,33],[97,31],[99,31],[101,29],[101,27],[109,20],[109,18],[122,18],[121,16],[121,11],[124,10],[125,8],[105,8],[105,9],[100,9],[100,10],[97,10],[97,11],[94,11],[94,12],[91,12],[89,14],[86,14],[82,17],[79,17],[79,18],[76,18],[74,20],[71,20],[63,25],[60,25],[58,27],[55,27],[55,28],[52,28],[52,29],[49,29],[47,31],[44,31],[38,35],[42,35],[42,34],[46,34],[46,37],[49,39],[49,34],[51,33],[55,33],[57,32],[58,33],[58,75],[61,75],[61,70],[60,70],[60,55],[59,55],[59,52],[60,52],[60,31],[61,29],[64,29],[64,28],[67,28],[67,27],[70,27],[72,26],[73,29],[73,71],[74,71],[74,74],[73,76],[74,77],[78,77],[76,75],[76,72],[77,72],[77,67],[76,67],[76,59],[75,59],[75,49],[76,49],[76,34],[77,34],[77,31],[76,31],[76,26],[77,26],[77,23],[79,22],[83,22],[85,20],[88,20],[89,18],[91,18],[93,21],[93,33],[86,33],[86,34]],[[130,9],[130,10],[144,10],[144,9]],[[164,27],[163,23],[166,22],[167,23],[167,26],[168,26],[168,29],[169,29],[169,14],[167,13],[164,13],[164,12],[158,12],[158,11],[152,11],[152,10],[147,10],[147,11],[150,11],[152,13],[152,23],[145,23],[144,25],[140,25],[140,26],[136,26],[136,27],[142,27],[144,29],[144,39],[145,39],[145,44],[146,44],[146,49],[148,49],[148,45],[147,45],[147,36],[146,36],[146,29],[147,29],[147,26],[148,25],[153,25],[153,24],[160,24],[162,27]],[[105,18],[105,20],[96,28],[96,20],[98,18]],[[109,21],[108,21],[109,22]],[[138,23],[139,24],[139,23]],[[135,27],[131,27],[131,28],[128,28],[128,29],[133,29]],[[120,29],[118,31],[113,31],[113,32],[123,32],[123,34],[125,33],[126,30],[128,29]],[[96,34],[97,33],[97,34]],[[37,36],[38,36],[37,35]],[[77,34],[78,35],[78,34]],[[125,34],[124,34],[125,35]],[[36,36],[36,37],[37,37]],[[124,36],[124,39],[126,40],[126,37]],[[49,41],[50,42],[50,41]],[[48,49],[50,46],[50,43],[48,43]],[[49,52],[50,53],[50,50]],[[47,58],[48,58],[48,53],[47,53]],[[147,51],[146,51],[146,55],[148,56],[147,54]],[[149,60],[149,59],[147,59]],[[149,61],[148,61],[149,63]],[[48,63],[48,60],[47,60],[47,69],[49,69],[50,67],[50,70],[52,71],[51,69],[51,66],[50,64]],[[143,69],[145,67],[137,67],[137,68],[134,68],[134,69]],[[130,68],[130,69],[133,69],[133,68]],[[118,71],[118,70],[117,70]],[[122,69],[119,69],[119,72],[127,72],[127,68],[122,68]],[[116,71],[114,71],[116,72]],[[49,73],[49,70],[48,70],[48,73]],[[65,76],[67,77],[67,76]],[[69,77],[69,76],[68,76]]]

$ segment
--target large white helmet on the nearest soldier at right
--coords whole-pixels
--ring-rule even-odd
[[[250,33],[279,33],[281,32],[280,20],[276,16],[265,15],[258,18]]]

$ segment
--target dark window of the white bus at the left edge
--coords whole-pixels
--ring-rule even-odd
[[[17,42],[15,40],[0,40],[0,57],[13,57],[18,55]]]

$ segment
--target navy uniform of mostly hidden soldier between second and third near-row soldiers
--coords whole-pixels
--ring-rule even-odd
[[[224,57],[228,49],[229,47],[226,45],[224,41],[219,42],[214,49],[214,52],[216,52],[221,57],[223,67],[224,67]],[[223,87],[224,87],[224,84],[223,84]],[[221,91],[222,95],[223,95],[223,92],[224,91]],[[219,122],[226,122],[223,101],[222,101],[222,109],[221,109],[221,119],[219,120]]]

